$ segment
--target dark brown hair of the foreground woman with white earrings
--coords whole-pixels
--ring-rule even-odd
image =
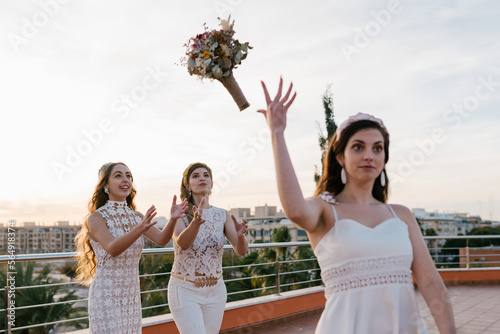
[[[324,159],[324,169],[323,175],[318,183],[314,196],[318,196],[324,191],[328,191],[333,195],[338,195],[342,190],[344,190],[344,184],[340,179],[340,172],[342,166],[340,166],[337,161],[337,156],[343,156],[345,148],[349,139],[359,130],[373,128],[380,131],[382,137],[384,137],[384,152],[385,152],[385,163],[389,161],[389,134],[387,131],[380,126],[377,122],[370,120],[360,120],[349,124],[345,129],[342,130],[340,137],[335,132],[330,139],[328,144],[328,151]],[[387,172],[385,168],[383,169],[385,173],[385,186],[382,187],[380,184],[380,175],[375,179],[372,189],[372,195],[375,199],[386,203],[387,197],[389,195],[389,178],[387,177]]]

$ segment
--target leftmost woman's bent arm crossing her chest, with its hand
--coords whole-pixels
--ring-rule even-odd
[[[87,223],[92,239],[97,241],[109,255],[115,257],[126,251],[143,233],[156,224],[152,221],[155,215],[156,208],[151,206],[142,217],[142,221],[119,238],[113,237],[106,225],[106,220],[98,212],[92,213]]]

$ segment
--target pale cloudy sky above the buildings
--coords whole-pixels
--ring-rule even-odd
[[[220,82],[180,66],[184,43],[235,19],[253,49]],[[110,161],[134,175],[138,210],[168,216],[183,170],[214,171],[212,205],[281,208],[263,80],[293,82],[285,137],[312,196],[324,131],[366,112],[391,135],[390,203],[500,220],[498,1],[2,1],[0,223],[80,223]]]

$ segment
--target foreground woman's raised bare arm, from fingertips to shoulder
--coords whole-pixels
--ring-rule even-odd
[[[266,84],[262,82],[264,95],[266,97],[267,110],[258,112],[266,117],[267,124],[271,130],[271,139],[274,152],[274,163],[276,178],[278,181],[278,193],[281,205],[288,218],[305,229],[312,231],[316,228],[321,213],[321,206],[317,201],[304,199],[299,181],[295,175],[292,161],[286,147],[284,131],[286,127],[286,114],[297,93],[290,98],[293,84],[290,84],[287,93],[282,98],[283,79],[280,78],[278,93],[271,100]]]

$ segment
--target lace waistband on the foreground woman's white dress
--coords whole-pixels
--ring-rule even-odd
[[[325,294],[333,294],[369,286],[412,284],[411,255],[348,261],[324,270],[321,277],[327,288]]]

